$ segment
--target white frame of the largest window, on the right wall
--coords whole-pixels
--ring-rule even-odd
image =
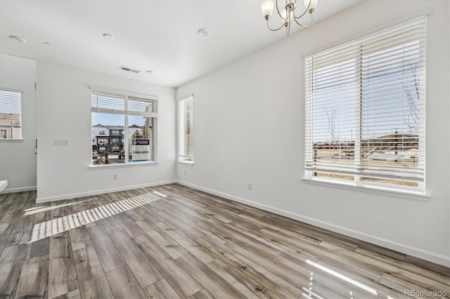
[[[419,106],[420,106],[420,114],[423,116],[423,120],[420,120],[420,124],[418,125],[418,133],[417,133],[417,138],[418,138],[418,150],[419,152],[423,152],[423,154],[421,154],[419,157],[419,160],[422,167],[423,167],[423,181],[418,181],[417,182],[417,186],[407,186],[407,185],[394,185],[394,184],[389,184],[386,182],[371,182],[371,181],[366,181],[366,180],[361,180],[360,177],[366,177],[366,175],[361,175],[361,173],[353,173],[352,175],[354,175],[354,179],[353,180],[337,180],[337,179],[333,179],[333,178],[321,178],[321,177],[317,177],[314,176],[314,170],[308,169],[307,167],[307,161],[308,159],[311,160],[311,155],[313,154],[314,150],[308,149],[307,147],[307,140],[313,140],[313,124],[314,122],[311,120],[312,119],[312,113],[313,113],[313,109],[308,108],[307,105],[312,105],[312,101],[313,101],[313,95],[311,93],[311,95],[307,95],[307,90],[309,88],[309,84],[310,86],[312,86],[311,82],[307,82],[307,58],[312,57],[315,54],[319,54],[319,53],[323,53],[326,52],[330,49],[333,48],[338,48],[340,46],[344,46],[346,44],[351,44],[354,42],[358,42],[360,39],[366,39],[367,36],[371,35],[371,34],[379,34],[380,32],[383,32],[384,30],[389,30],[392,27],[396,27],[396,26],[401,26],[404,25],[407,22],[413,22],[415,20],[419,20],[423,18],[423,27],[424,29],[424,33],[423,35],[418,34],[418,41],[420,41],[421,39],[425,40],[425,43],[422,45],[419,43],[418,46],[418,51],[419,53],[423,52],[420,54],[420,58],[424,59],[423,65],[419,64],[418,68],[420,69],[420,72],[423,72],[425,74],[425,60],[426,60],[426,14],[423,15],[416,15],[415,18],[409,18],[409,20],[402,20],[401,22],[398,22],[396,24],[392,24],[389,25],[387,27],[383,27],[383,28],[379,28],[376,31],[370,32],[370,33],[365,33],[364,35],[361,34],[361,36],[358,37],[354,37],[353,39],[350,39],[349,41],[346,42],[341,42],[339,44],[333,44],[331,46],[329,46],[328,48],[325,49],[320,49],[319,51],[314,51],[314,53],[308,53],[307,55],[304,55],[305,58],[305,63],[304,63],[304,67],[305,67],[305,73],[304,73],[304,84],[305,84],[305,93],[304,93],[304,97],[305,97],[305,127],[304,127],[304,138],[305,138],[305,151],[304,151],[304,178],[302,178],[302,180],[308,182],[308,181],[314,181],[317,182],[319,184],[330,184],[330,185],[342,185],[342,186],[350,186],[350,187],[359,187],[362,189],[371,189],[371,190],[383,190],[383,191],[388,191],[388,192],[396,192],[396,193],[403,193],[403,194],[413,194],[413,195],[418,195],[418,196],[423,196],[423,197],[428,197],[428,194],[425,193],[426,189],[425,189],[425,178],[426,178],[426,173],[425,173],[425,159],[426,159],[426,153],[425,153],[425,126],[426,126],[426,119],[425,119],[425,109],[426,109],[426,105],[425,105],[425,92],[422,96],[418,96],[418,102],[419,102]],[[405,47],[407,45],[407,43],[405,42],[404,44],[402,44],[403,47]],[[383,48],[383,50],[388,50],[392,48],[392,46],[385,46]],[[359,67],[359,72],[355,72],[355,77],[356,78],[362,78],[361,77],[361,66],[362,66],[362,60],[364,58],[364,54],[361,51],[361,54],[358,54],[359,60],[361,60],[360,62],[356,62],[358,64]],[[314,69],[314,68],[313,68]],[[311,72],[312,69],[311,69]],[[311,76],[311,79],[313,77],[313,75],[309,75]],[[358,81],[358,79],[355,80],[355,82],[357,82],[358,84],[362,83],[362,79],[361,81]],[[423,84],[423,88],[425,91],[425,86],[426,86],[426,74],[423,76],[423,81],[420,82],[420,84]],[[312,89],[311,89],[312,90]],[[355,109],[355,120],[354,120],[354,130],[352,130],[352,134],[355,135],[355,138],[351,138],[352,140],[354,140],[354,164],[356,165],[356,162],[358,163],[362,163],[362,161],[358,161],[360,157],[357,157],[357,153],[359,151],[361,151],[361,148],[363,147],[363,145],[361,144],[361,130],[363,127],[363,124],[361,124],[361,116],[363,115],[362,111],[363,108],[361,106],[361,101],[362,100],[362,85],[359,86],[355,86],[355,90],[356,93],[359,93],[358,96],[354,97],[354,101],[355,101],[355,107],[359,107],[359,109]],[[359,102],[359,104],[357,104],[357,102]],[[359,106],[358,106],[359,105]],[[357,122],[359,121],[359,126],[357,125]],[[309,136],[308,136],[309,134]],[[341,142],[342,143],[342,142]],[[350,141],[350,143],[352,143],[352,141]],[[313,142],[314,144],[314,142]],[[358,147],[358,148],[357,148]],[[420,167],[420,168],[422,168]],[[340,173],[340,174],[346,174],[346,173]],[[370,177],[370,175],[368,175],[367,177]],[[397,177],[395,176],[391,176],[390,178],[387,179],[391,179],[391,180],[399,180]]]

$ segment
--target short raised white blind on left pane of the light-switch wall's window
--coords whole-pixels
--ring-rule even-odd
[[[92,91],[91,111],[99,113],[125,114],[125,95]]]

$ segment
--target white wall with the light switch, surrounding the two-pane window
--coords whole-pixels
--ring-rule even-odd
[[[91,170],[91,91],[101,86],[159,97],[159,165]],[[158,185],[174,180],[175,89],[37,62],[37,201]],[[54,146],[69,139],[68,147]],[[118,180],[113,180],[113,174]]]

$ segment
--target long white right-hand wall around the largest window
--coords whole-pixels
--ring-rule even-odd
[[[195,165],[178,178],[209,192],[450,265],[449,1],[361,2],[177,90],[194,97]],[[429,199],[301,180],[302,55],[430,6],[427,44]],[[320,3],[319,7],[320,9]],[[271,32],[284,34],[284,32]],[[185,172],[186,171],[186,172]],[[253,190],[248,190],[252,181]],[[420,200],[424,201],[420,201]]]

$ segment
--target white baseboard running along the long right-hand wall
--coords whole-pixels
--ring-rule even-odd
[[[275,213],[275,214],[278,214],[278,215],[285,216],[287,218],[298,220],[300,222],[304,222],[304,223],[307,223],[309,225],[314,225],[316,227],[321,227],[321,228],[323,228],[325,230],[330,230],[332,232],[338,232],[339,234],[344,234],[345,236],[348,236],[348,237],[353,237],[353,238],[359,239],[361,241],[366,241],[368,243],[375,244],[375,245],[378,245],[378,246],[383,246],[385,248],[389,248],[389,249],[394,250],[394,251],[405,253],[407,255],[412,255],[412,256],[415,256],[416,258],[422,258],[423,260],[429,260],[432,263],[437,263],[439,265],[444,265],[446,267],[450,267],[450,258],[448,256],[445,256],[445,255],[439,255],[437,253],[432,253],[430,251],[425,251],[425,250],[420,249],[420,248],[415,248],[415,247],[412,247],[412,246],[409,246],[409,245],[406,245],[406,244],[401,244],[401,243],[398,243],[398,242],[395,242],[395,241],[391,241],[391,240],[388,240],[388,239],[383,239],[383,238],[380,238],[380,237],[376,237],[376,236],[373,236],[371,234],[366,234],[364,232],[359,232],[359,231],[356,231],[356,230],[352,230],[352,229],[349,229],[347,227],[341,227],[339,225],[334,225],[333,223],[329,223],[329,222],[325,222],[325,221],[322,221],[322,220],[309,218],[309,217],[304,216],[304,215],[299,215],[299,214],[296,214],[296,213],[284,211],[284,210],[281,210],[279,208],[274,208],[272,206],[266,206],[264,204],[259,204],[259,203],[255,202],[255,201],[250,201],[248,199],[235,197],[233,195],[226,194],[226,193],[223,193],[223,192],[217,192],[215,190],[211,190],[211,189],[208,189],[208,188],[205,188],[205,187],[200,187],[198,185],[193,185],[193,184],[190,184],[188,182],[181,182],[181,181],[177,181],[177,182],[180,185],[184,185],[184,186],[187,186],[187,187],[191,187],[193,189],[201,190],[201,191],[204,191],[204,192],[207,192],[207,193],[210,193],[210,194],[217,195],[219,197],[224,197],[226,199],[231,199],[233,201],[238,201],[241,204],[247,204],[248,206],[253,206],[255,208],[260,208],[260,209],[262,209],[264,211],[269,211],[271,213]]]

